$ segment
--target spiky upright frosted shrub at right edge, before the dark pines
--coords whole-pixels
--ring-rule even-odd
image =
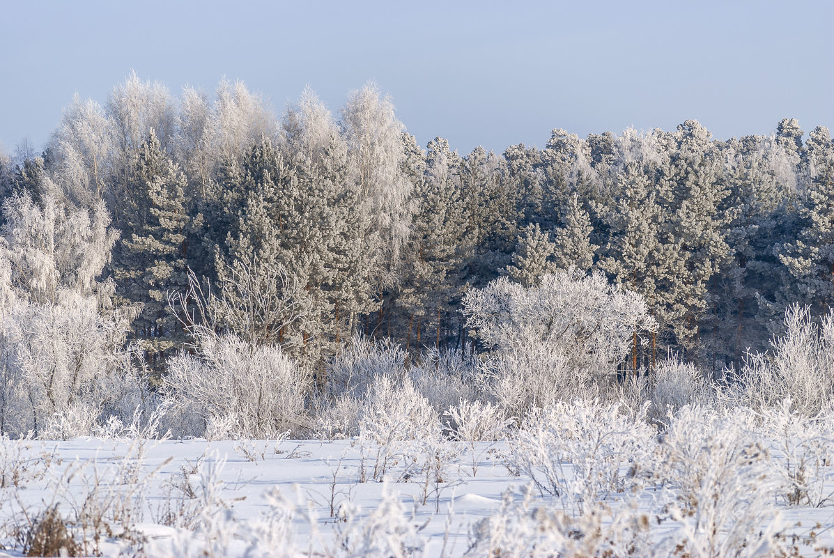
[[[737,405],[777,407],[790,398],[793,410],[816,415],[834,394],[834,313],[816,324],[807,306],[789,307],[785,335],[770,353],[750,355],[739,376]]]

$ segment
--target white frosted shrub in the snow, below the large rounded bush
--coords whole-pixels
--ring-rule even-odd
[[[656,430],[645,415],[645,408],[632,417],[620,404],[598,400],[555,401],[521,423],[510,440],[510,460],[541,493],[584,510],[645,484],[656,450]]]

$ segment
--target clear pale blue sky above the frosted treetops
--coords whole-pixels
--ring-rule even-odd
[[[374,80],[420,144],[544,147],[553,128],[771,133],[834,128],[834,3],[43,2],[0,0],[0,143],[43,148],[78,93],[131,70],[214,91],[240,79],[279,114],[306,85],[338,113]]]

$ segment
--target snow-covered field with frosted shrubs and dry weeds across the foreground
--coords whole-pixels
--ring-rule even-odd
[[[497,442],[3,440],[2,555],[37,548],[60,523],[78,555],[108,556],[834,547],[830,421],[686,408],[658,436],[610,410],[556,405]]]

